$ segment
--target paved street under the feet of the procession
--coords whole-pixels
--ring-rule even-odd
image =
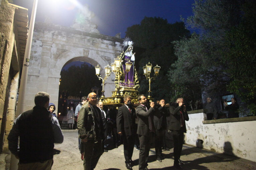
[[[53,170],[82,170],[83,161],[78,149],[77,130],[63,130],[64,142],[55,144],[56,154],[54,155]],[[111,148],[110,148],[111,149]],[[157,162],[155,150],[152,148],[149,153],[148,168],[151,170],[172,170],[173,149],[163,151],[165,159]],[[134,148],[133,157],[134,170],[138,170],[139,150]],[[248,161],[237,157],[218,154],[189,145],[183,145],[181,160],[186,164],[184,170],[255,170],[256,162]],[[123,145],[103,153],[95,170],[126,170],[123,155]]]

